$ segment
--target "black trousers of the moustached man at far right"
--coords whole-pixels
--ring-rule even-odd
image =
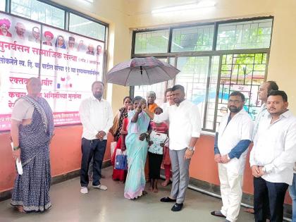
[[[287,183],[271,183],[254,178],[254,216],[256,222],[283,222],[283,203]]]

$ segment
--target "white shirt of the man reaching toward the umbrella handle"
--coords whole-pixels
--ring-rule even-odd
[[[169,106],[164,113],[154,114],[153,121],[161,123],[170,121],[170,149],[181,150],[189,146],[191,137],[199,137],[202,123],[197,105],[184,100],[179,106]]]

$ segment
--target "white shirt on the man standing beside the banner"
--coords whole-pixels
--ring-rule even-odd
[[[94,140],[97,139],[97,133],[103,130],[106,132],[104,140],[107,140],[107,133],[113,125],[113,111],[108,101],[99,101],[94,96],[84,99],[80,104],[79,114],[83,125],[82,137]]]

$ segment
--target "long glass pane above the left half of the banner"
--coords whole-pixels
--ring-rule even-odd
[[[64,28],[65,11],[37,0],[12,0],[11,13],[54,27]]]

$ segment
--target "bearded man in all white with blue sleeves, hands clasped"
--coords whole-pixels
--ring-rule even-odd
[[[242,178],[245,170],[247,148],[252,140],[252,118],[243,109],[245,96],[232,92],[228,100],[230,113],[223,116],[216,133],[214,160],[218,163],[218,175],[223,206],[211,215],[237,221],[242,200]]]

